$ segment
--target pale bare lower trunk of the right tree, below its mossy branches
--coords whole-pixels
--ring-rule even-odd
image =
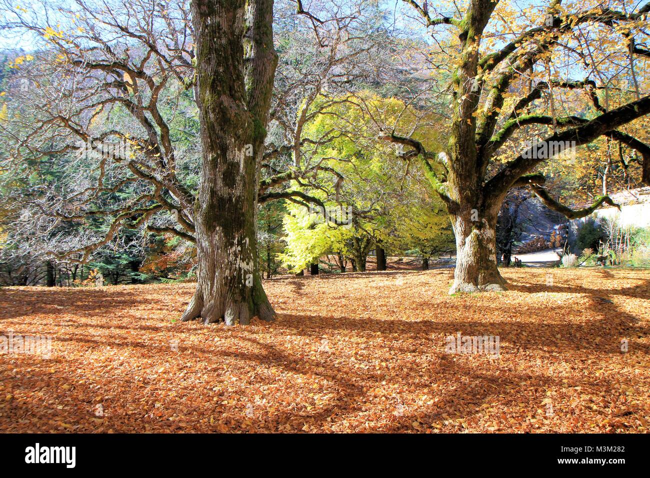
[[[497,269],[496,217],[472,220],[470,213],[452,216],[456,234],[456,270],[450,294],[502,291],[506,281]]]

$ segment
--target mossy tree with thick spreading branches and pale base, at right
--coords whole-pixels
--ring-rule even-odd
[[[551,209],[575,219],[593,212],[603,203],[613,204],[608,196],[596,198],[578,211],[563,206],[543,189],[544,176],[536,166],[549,159],[543,151],[551,144],[580,146],[607,136],[641,153],[643,182],[650,184],[650,147],[618,128],[650,113],[650,96],[637,95],[614,109],[599,104],[599,85],[593,81],[539,81],[513,106],[506,105],[515,81],[526,75],[532,78],[536,66],[548,62],[554,49],[562,47],[562,38],[583,24],[598,24],[610,34],[624,31],[630,57],[648,58],[650,51],[634,43],[632,31],[647,25],[650,3],[636,12],[586,7],[575,12],[561,10],[561,0],[552,0],[539,26],[525,29],[500,49],[487,53],[481,40],[488,22],[495,15],[498,0],[471,0],[462,18],[435,15],[427,3],[404,0],[415,8],[427,27],[452,25],[458,34],[458,59],[452,77],[451,128],[448,147],[440,154],[427,152],[421,142],[383,132],[380,139],[410,146],[404,158],[418,157],[432,184],[447,204],[456,235],[457,261],[454,284],[449,293],[504,289],[505,280],[497,269],[496,224],[499,208],[510,189],[528,186]],[[625,27],[625,28],[623,28]],[[432,35],[435,36],[435,31]],[[583,59],[586,61],[586,59]],[[603,68],[594,66],[594,68]],[[527,114],[532,103],[553,88],[584,90],[595,111],[594,118]],[[552,94],[552,93],[551,93]],[[577,112],[578,113],[578,112]],[[543,140],[532,142],[521,154],[509,161],[497,160],[497,152],[522,128],[550,125],[554,130]]]

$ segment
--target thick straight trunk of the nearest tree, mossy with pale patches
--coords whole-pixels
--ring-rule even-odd
[[[183,321],[272,321],[257,240],[259,166],[277,58],[271,0],[195,0],[201,185],[194,207],[198,272]]]

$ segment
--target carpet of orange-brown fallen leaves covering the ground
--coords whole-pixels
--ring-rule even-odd
[[[647,432],[650,271],[504,276],[285,276],[276,323],[233,327],[176,320],[193,284],[3,288],[0,334],[53,350],[0,355],[0,431]],[[457,332],[500,358],[445,352]]]

